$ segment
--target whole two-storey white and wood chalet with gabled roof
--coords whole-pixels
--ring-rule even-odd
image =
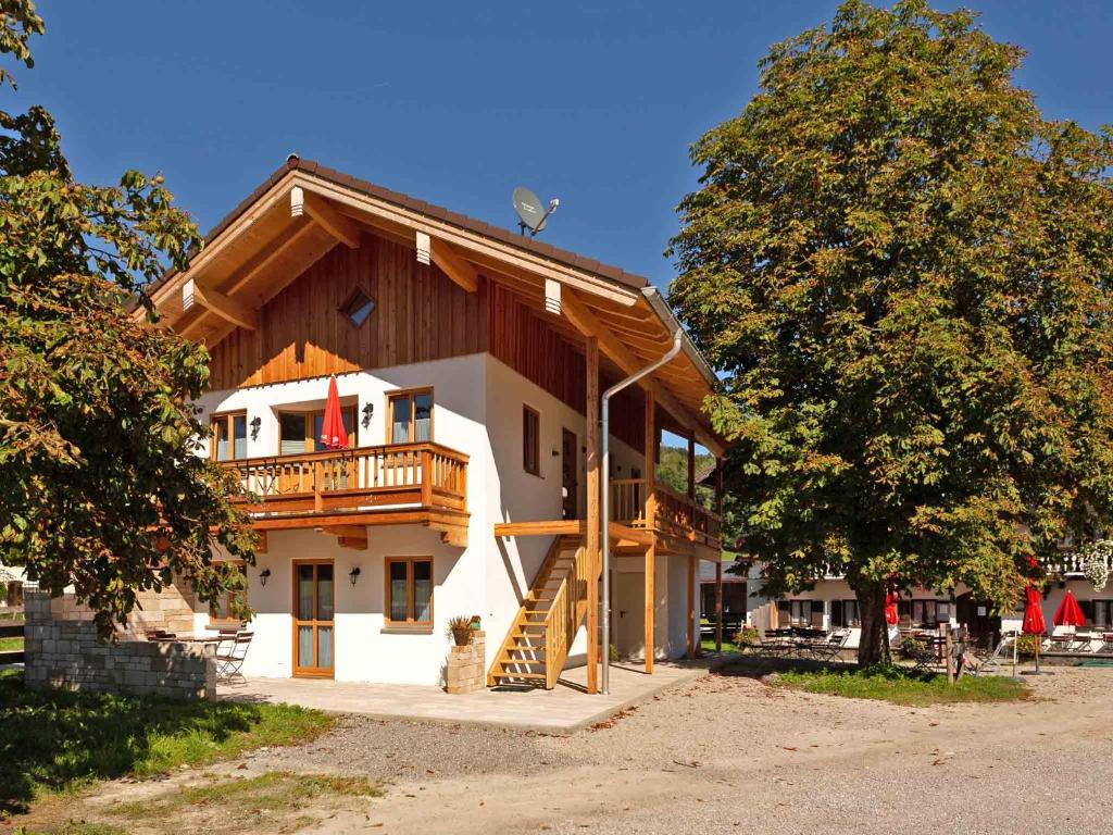
[[[647,279],[292,157],[152,298],[211,353],[207,454],[260,534],[246,676],[440,684],[463,616],[490,685],[587,661],[595,689],[601,393],[677,338],[610,401],[610,635],[647,671],[695,651],[716,377]],[[688,439],[687,493],[654,479],[662,430]]]

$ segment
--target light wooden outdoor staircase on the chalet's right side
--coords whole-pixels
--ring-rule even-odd
[[[528,684],[551,690],[588,613],[588,549],[580,536],[558,537],[499,648],[487,687]]]

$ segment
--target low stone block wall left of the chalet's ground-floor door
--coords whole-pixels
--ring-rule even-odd
[[[150,629],[191,631],[181,619],[174,591],[147,599],[144,618],[117,630],[117,641],[98,640],[92,611],[72,595],[51,598],[29,592],[26,598],[23,680],[28,687],[71,690],[154,694],[185,699],[216,698],[216,658],[211,644],[154,642],[142,635]],[[177,601],[177,602],[176,602]],[[165,607],[162,606],[165,603]]]

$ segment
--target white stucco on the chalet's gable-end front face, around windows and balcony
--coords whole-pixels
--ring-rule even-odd
[[[471,456],[467,466],[469,547],[446,546],[440,534],[421,525],[382,525],[368,528],[367,550],[339,548],[336,539],[313,530],[272,531],[267,553],[260,554],[248,572],[248,602],[257,610],[252,623],[255,631],[246,675],[289,676],[293,664],[293,568],[294,559],[332,558],[336,573],[335,677],[348,681],[381,681],[435,685],[447,655],[445,629],[456,615],[485,611],[483,577],[486,572],[487,542],[492,539],[486,504],[474,497],[486,493],[490,455],[483,376],[485,355],[440,360],[436,362],[380,369],[337,375],[336,384],[345,405],[356,404],[358,421],[363,407],[372,403],[374,412],[367,426],[357,431],[358,446],[376,446],[386,441],[386,395],[391,391],[433,386],[434,440]],[[258,436],[247,439],[247,454],[274,455],[278,451],[278,412],[295,406],[324,406],[325,380],[299,380],[289,383],[210,392],[198,405],[203,419],[215,412],[245,410],[248,422],[260,419]],[[387,557],[433,557],[432,635],[400,635],[383,631],[385,568]],[[359,566],[355,587],[348,572]],[[270,569],[266,588],[258,574]],[[198,627],[208,616],[199,613]],[[484,625],[485,626],[485,625]]]

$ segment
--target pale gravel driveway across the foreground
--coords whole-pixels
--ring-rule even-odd
[[[1107,833],[1113,670],[1008,705],[907,708],[729,671],[573,737],[345,719],[247,760],[387,784],[319,832]]]

